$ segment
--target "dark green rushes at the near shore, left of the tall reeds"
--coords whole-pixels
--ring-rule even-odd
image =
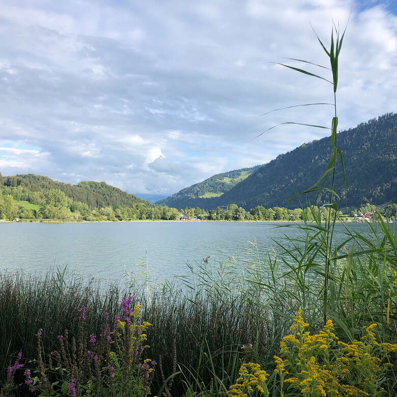
[[[243,276],[231,266],[214,271],[203,264],[179,286],[175,282],[153,287],[149,295],[136,282],[106,286],[61,271],[37,278],[0,274],[2,377],[13,353],[22,350],[23,358],[35,357],[38,329],[43,329],[43,351],[48,354],[65,329],[70,337],[78,334],[80,307],[88,311],[88,334],[99,334],[105,313],[118,314],[121,297],[132,294],[141,303],[145,321],[153,324],[148,354],[162,366],[155,373],[153,390],[178,369],[172,395],[211,387],[217,395],[233,382],[243,356],[270,360],[286,330],[281,324],[273,329],[269,309],[260,305],[262,274],[266,272],[259,268],[247,269]],[[243,350],[243,345],[248,348]]]

